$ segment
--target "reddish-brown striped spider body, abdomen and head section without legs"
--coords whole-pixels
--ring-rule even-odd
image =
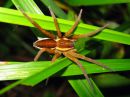
[[[34,42],[33,46],[42,49],[42,48],[50,48],[56,49],[59,51],[68,51],[74,48],[74,41],[67,38],[57,38],[57,39],[42,39]]]

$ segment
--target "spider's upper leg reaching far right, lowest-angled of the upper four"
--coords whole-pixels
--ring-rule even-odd
[[[81,34],[81,35],[73,35],[72,38],[73,39],[78,39],[78,38],[85,38],[85,37],[90,37],[90,36],[93,36],[95,34],[97,34],[98,32],[102,31],[103,29],[105,29],[109,24],[106,24],[104,25],[103,27],[95,30],[95,31],[92,31],[92,32],[89,32],[87,34]]]

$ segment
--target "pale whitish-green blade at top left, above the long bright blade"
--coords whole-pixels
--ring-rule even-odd
[[[17,8],[23,9],[25,12],[43,14],[34,0],[12,0]]]

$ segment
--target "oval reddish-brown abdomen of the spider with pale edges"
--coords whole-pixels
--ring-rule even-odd
[[[54,39],[37,40],[33,46],[36,48],[55,48],[56,41]]]

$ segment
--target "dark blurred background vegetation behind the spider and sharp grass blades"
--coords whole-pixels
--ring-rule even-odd
[[[15,1],[15,0],[12,0]],[[16,5],[11,0],[1,0],[0,6],[4,8],[16,9]],[[28,0],[27,0],[28,1]],[[49,2],[51,0],[34,0],[37,6],[41,9],[39,14],[44,13],[50,16],[48,11]],[[119,0],[107,4],[102,1],[98,4],[91,4],[79,0],[54,0],[53,12],[57,17],[74,21],[76,15],[83,9],[82,23],[103,26],[110,23],[109,29],[113,29],[122,33],[130,34],[130,3],[129,1]],[[96,0],[97,1],[97,0]],[[106,0],[108,1],[108,0]],[[77,3],[76,3],[77,2]],[[54,3],[54,4],[53,4]],[[116,4],[115,4],[116,3]],[[22,4],[21,4],[22,5]],[[24,5],[23,5],[24,6]],[[28,10],[28,9],[24,9]],[[33,10],[32,10],[33,13]],[[34,9],[35,13],[35,9]],[[20,21],[19,21],[20,22]],[[0,61],[17,61],[28,62],[33,61],[37,51],[32,47],[34,41],[37,40],[39,32],[26,26],[15,24],[0,23]],[[55,31],[54,31],[55,33]],[[40,35],[39,35],[40,36]],[[109,37],[107,37],[109,39]],[[79,40],[80,45],[76,48],[80,49],[84,40]],[[104,41],[100,39],[87,39],[84,41],[84,48],[90,50],[87,56],[95,59],[129,59],[130,46],[126,44],[116,43],[112,41]],[[130,41],[127,41],[130,43]],[[83,47],[81,47],[83,48]],[[51,60],[51,55],[44,53],[40,60]],[[129,63],[130,64],[130,63]],[[123,65],[123,64],[122,64]],[[118,74],[117,74],[118,73]],[[92,78],[105,97],[129,97],[130,93],[130,72],[117,72],[106,74],[92,74]],[[35,87],[17,86],[8,91],[1,97],[78,97],[73,88],[64,80],[65,77],[50,78],[46,86],[42,82]],[[1,82],[1,88],[8,86],[13,81]],[[20,95],[19,95],[20,94]],[[83,97],[83,96],[81,96]]]

